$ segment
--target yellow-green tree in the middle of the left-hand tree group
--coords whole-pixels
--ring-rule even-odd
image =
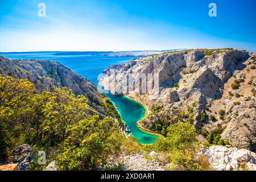
[[[59,142],[67,137],[67,127],[77,123],[88,115],[88,101],[85,96],[76,97],[68,88],[55,88],[55,92],[43,92],[47,98],[43,107],[46,119],[43,122],[43,134],[51,142]]]

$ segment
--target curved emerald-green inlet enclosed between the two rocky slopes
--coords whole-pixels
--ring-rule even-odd
[[[117,106],[121,119],[131,130],[135,140],[142,144],[153,144],[159,138],[158,135],[147,133],[140,129],[137,121],[146,115],[146,109],[139,103],[125,96],[114,96],[108,93],[110,101]]]

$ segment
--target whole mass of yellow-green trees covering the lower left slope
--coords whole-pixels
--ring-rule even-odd
[[[35,151],[46,151],[48,160],[56,159],[60,169],[93,169],[106,162],[118,152],[122,136],[114,118],[90,114],[86,102],[68,88],[36,94],[30,81],[0,76],[1,159],[28,143]],[[53,155],[57,150],[61,152]]]

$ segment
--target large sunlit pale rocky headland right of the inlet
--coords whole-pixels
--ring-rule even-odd
[[[226,129],[222,133],[222,137],[230,144],[254,148],[255,94],[250,97],[250,110],[246,106],[249,101],[232,107],[234,113],[240,113],[241,117],[234,117],[233,114],[230,115],[231,120],[225,116],[225,118],[222,117],[223,120],[220,119],[223,122],[210,121],[209,116],[218,115],[222,106],[221,108],[216,106],[217,110],[214,111],[210,111],[208,108],[214,101],[224,97],[225,83],[233,75],[249,69],[251,70],[250,74],[255,75],[255,69],[253,69],[255,57],[255,54],[235,49],[196,49],[150,55],[131,60],[127,64],[112,65],[105,70],[106,76],[101,78],[100,85],[113,93],[119,91],[117,89],[120,88],[128,90],[129,86],[123,80],[133,73],[134,89],[129,93],[121,94],[136,98],[150,108],[151,114],[140,121],[143,127],[161,132],[165,125],[180,120],[189,121],[197,129],[205,128],[208,131],[212,131],[216,127],[223,127]],[[115,69],[114,76],[110,74],[110,69]],[[142,77],[140,73],[145,73],[147,76]],[[148,76],[148,73],[151,76]],[[244,76],[246,77],[246,73]],[[250,77],[250,79],[255,80],[255,77]],[[157,85],[156,81],[159,81],[159,88],[154,88],[154,92],[150,92],[148,89],[146,92],[142,92],[141,86],[145,82]],[[248,89],[253,89],[250,86],[255,88],[254,82],[251,82]],[[248,86],[246,85],[246,87]],[[241,87],[241,89],[245,88]],[[236,92],[240,91],[236,90]],[[240,99],[246,100],[245,97]],[[233,98],[230,98],[229,102],[233,105]],[[155,109],[156,105],[160,106],[160,109]],[[240,109],[243,110],[243,114]],[[202,118],[201,113],[203,112],[206,112],[208,116]],[[246,112],[251,113],[247,113],[249,117],[246,117]],[[221,125],[212,123],[221,123]],[[247,123],[247,125],[243,123]],[[241,129],[243,127],[247,127],[245,133],[243,133],[244,129]],[[239,142],[241,138],[243,142]]]

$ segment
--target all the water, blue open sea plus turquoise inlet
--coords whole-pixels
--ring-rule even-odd
[[[88,78],[94,84],[98,84],[98,76],[102,71],[112,64],[127,63],[134,57],[115,57],[115,56],[99,56],[99,55],[53,55],[51,53],[15,53],[15,54],[1,54],[9,59],[42,59],[57,61],[64,64],[66,67],[72,69],[72,71]],[[113,94],[107,94],[114,105],[118,105],[117,110],[121,115],[122,120],[130,128],[134,138],[143,144],[152,144],[159,137],[154,134],[147,133],[139,129],[137,121],[143,118],[146,109],[136,101],[133,101],[124,96],[114,96]],[[143,113],[144,112],[144,113]]]

